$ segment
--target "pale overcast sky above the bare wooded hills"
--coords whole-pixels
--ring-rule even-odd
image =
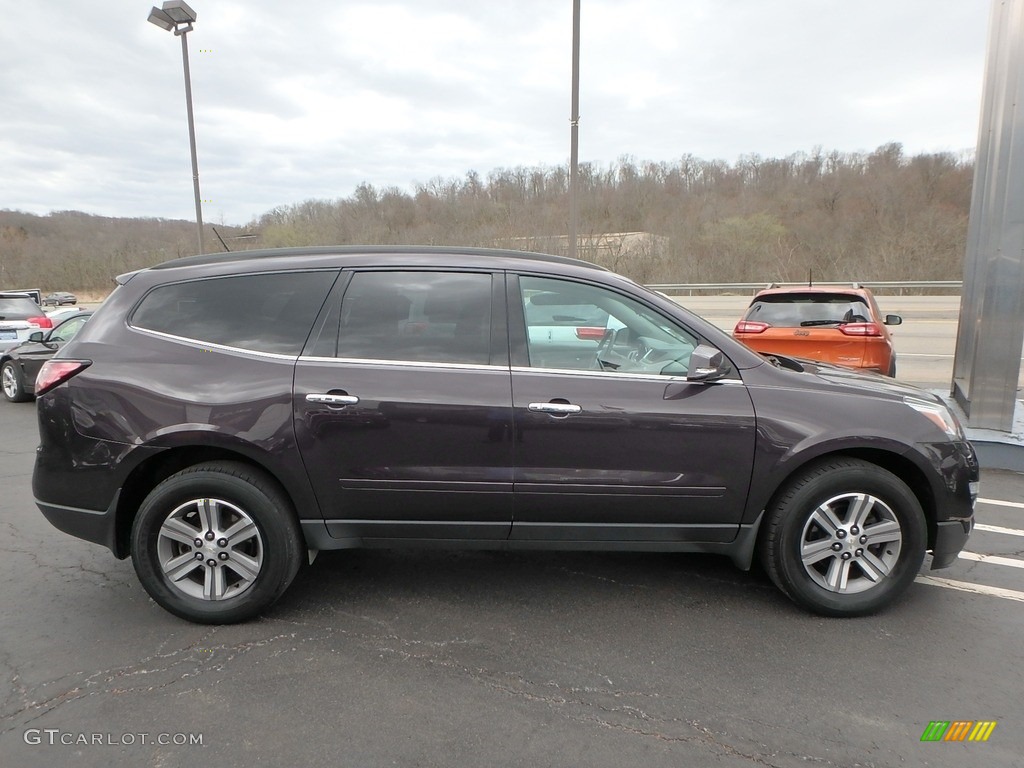
[[[568,163],[571,0],[188,1],[207,221]],[[0,209],[194,219],[152,2],[3,5]],[[977,143],[989,0],[582,6],[581,162]]]

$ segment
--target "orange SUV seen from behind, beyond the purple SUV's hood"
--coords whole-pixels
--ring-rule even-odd
[[[838,366],[896,376],[896,352],[886,326],[898,314],[884,315],[866,288],[774,284],[751,301],[732,338],[763,354],[810,357]]]

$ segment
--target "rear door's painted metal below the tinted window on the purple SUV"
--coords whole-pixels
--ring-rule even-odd
[[[506,538],[509,396],[507,368],[300,360],[297,437],[332,535]]]

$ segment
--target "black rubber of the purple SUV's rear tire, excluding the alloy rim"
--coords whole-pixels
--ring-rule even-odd
[[[164,574],[157,553],[160,528],[168,516],[180,505],[206,497],[237,505],[262,539],[259,575],[245,592],[226,600],[182,593]],[[185,470],[164,480],[146,497],[132,524],[132,562],[145,591],[171,613],[202,624],[231,624],[257,615],[285,591],[301,559],[296,526],[281,501],[249,479],[213,469]]]

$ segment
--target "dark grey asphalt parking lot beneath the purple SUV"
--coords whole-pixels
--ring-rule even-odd
[[[712,556],[375,551],[211,628],[39,514],[32,403],[0,435],[0,766],[1024,765],[1020,475],[868,618]]]

